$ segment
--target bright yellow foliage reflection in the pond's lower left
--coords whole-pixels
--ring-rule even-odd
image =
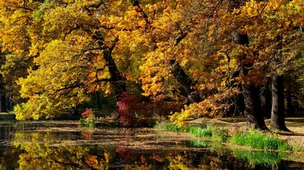
[[[15,134],[14,146],[23,149],[19,156],[19,169],[108,169],[108,152],[90,154],[88,147],[51,146],[56,136],[50,133]]]

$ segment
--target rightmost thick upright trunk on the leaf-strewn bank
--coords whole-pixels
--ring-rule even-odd
[[[283,76],[273,76],[272,82],[273,104],[271,109],[271,129],[288,130],[284,116],[284,87]]]

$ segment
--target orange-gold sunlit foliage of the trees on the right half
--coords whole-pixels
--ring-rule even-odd
[[[224,101],[239,93],[237,89],[229,90],[234,83],[254,82],[261,86],[271,74],[286,72],[289,68],[287,63],[293,60],[301,40],[297,27],[303,23],[301,17],[295,17],[295,13],[301,13],[303,2],[247,1],[234,10],[229,6],[232,4],[221,1],[216,5],[206,2],[209,8],[202,4],[192,6],[192,3],[164,9],[162,16],[153,23],[159,40],[158,49],[146,55],[155,61],[147,60],[151,68],[157,68],[162,63],[155,60],[157,57],[177,59],[184,69],[189,70],[190,76],[198,79],[196,88],[211,92],[201,103],[187,106],[180,114],[175,113],[172,118],[177,123],[191,115],[223,113],[221,109],[228,108]],[[249,45],[236,45],[231,38],[233,30],[246,33]],[[187,34],[185,38],[175,43],[183,33]],[[278,41],[279,37],[283,37],[282,42]],[[246,64],[246,77],[242,74],[232,77],[238,72],[239,64]],[[162,67],[166,68],[165,64]],[[146,69],[145,73],[148,70],[153,69]],[[157,74],[159,72],[158,69],[150,76],[164,77],[165,74]],[[157,90],[160,89],[158,85],[154,84]],[[147,89],[153,90],[153,86],[147,86]]]

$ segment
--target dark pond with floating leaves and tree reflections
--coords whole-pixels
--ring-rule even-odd
[[[304,169],[293,157],[303,155],[229,149],[153,128],[0,122],[0,169]]]

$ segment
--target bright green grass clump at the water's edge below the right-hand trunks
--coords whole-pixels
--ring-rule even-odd
[[[231,143],[251,147],[254,149],[271,149],[271,150],[291,150],[292,147],[278,139],[272,134],[251,131],[248,133],[238,133],[231,138]]]

